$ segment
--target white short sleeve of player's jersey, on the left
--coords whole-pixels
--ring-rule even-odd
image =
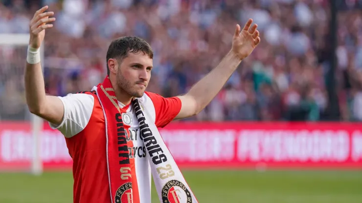
[[[63,121],[57,126],[49,122],[52,129],[58,129],[66,138],[81,132],[91,119],[94,97],[89,94],[68,94],[58,97],[64,105]]]

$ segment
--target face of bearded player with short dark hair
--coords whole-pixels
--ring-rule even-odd
[[[151,78],[153,60],[143,52],[128,53],[118,67],[118,86],[130,96],[140,98]]]

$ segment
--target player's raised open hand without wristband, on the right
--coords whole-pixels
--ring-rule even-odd
[[[253,24],[253,26],[251,26],[251,23],[252,19],[249,19],[241,32],[240,25],[237,24],[235,34],[232,38],[231,51],[241,60],[248,57],[260,42],[259,31],[256,30],[258,25]]]

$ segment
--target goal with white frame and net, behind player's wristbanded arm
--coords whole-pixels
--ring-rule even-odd
[[[28,34],[0,34],[0,172],[43,171],[43,120],[29,112],[24,93],[28,43]],[[41,54],[44,58],[43,47]]]

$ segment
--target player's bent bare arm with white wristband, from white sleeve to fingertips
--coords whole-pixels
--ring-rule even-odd
[[[54,96],[45,95],[45,84],[40,63],[40,45],[45,37],[45,29],[52,27],[46,24],[55,20],[49,18],[53,12],[45,12],[45,6],[38,10],[30,21],[30,41],[25,67],[25,96],[31,113],[48,122],[60,124],[64,116],[63,102]],[[44,13],[45,12],[45,13]]]

